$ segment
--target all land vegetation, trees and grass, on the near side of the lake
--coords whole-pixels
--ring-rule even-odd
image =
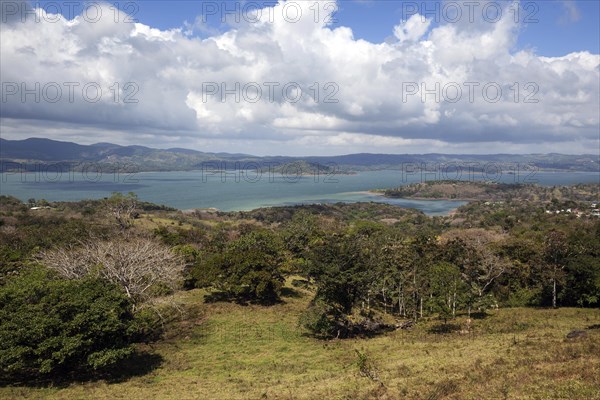
[[[555,211],[597,189],[494,189],[447,217],[1,196],[1,380],[72,383],[0,396],[594,398],[600,218]],[[144,353],[164,364],[94,382]]]

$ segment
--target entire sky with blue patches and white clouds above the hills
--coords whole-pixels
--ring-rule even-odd
[[[595,0],[0,5],[5,139],[600,153]]]

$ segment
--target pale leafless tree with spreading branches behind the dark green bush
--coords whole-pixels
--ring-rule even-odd
[[[68,279],[98,274],[122,287],[134,304],[148,300],[153,287],[176,289],[185,266],[170,248],[138,237],[47,251],[40,261]]]

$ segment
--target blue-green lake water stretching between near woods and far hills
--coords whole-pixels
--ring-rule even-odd
[[[435,178],[434,175],[406,174],[400,170],[334,176],[283,176],[268,172],[260,174],[256,171],[135,174],[17,172],[0,174],[0,194],[12,195],[23,201],[29,198],[77,201],[107,197],[112,192],[135,192],[144,201],[178,209],[214,207],[223,211],[308,203],[376,201],[416,208],[429,215],[444,215],[465,204],[460,201],[386,199],[365,193],[370,189],[397,187]],[[480,175],[471,175],[462,176],[461,180],[483,179]],[[600,176],[589,172],[536,172],[527,175],[503,174],[488,180],[552,186],[599,183]]]

